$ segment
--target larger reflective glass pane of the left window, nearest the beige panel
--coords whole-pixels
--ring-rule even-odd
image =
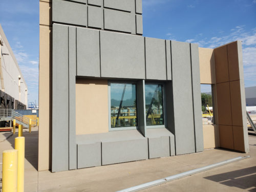
[[[111,83],[111,127],[137,126],[136,84]]]

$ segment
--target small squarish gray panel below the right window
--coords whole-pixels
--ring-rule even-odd
[[[148,138],[149,158],[170,156],[169,136]]]

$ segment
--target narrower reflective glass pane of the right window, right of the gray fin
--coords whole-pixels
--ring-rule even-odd
[[[163,89],[161,84],[145,84],[146,125],[163,125]]]

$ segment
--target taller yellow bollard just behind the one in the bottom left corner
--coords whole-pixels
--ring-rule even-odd
[[[15,150],[18,151],[17,192],[24,192],[25,137],[15,138]]]

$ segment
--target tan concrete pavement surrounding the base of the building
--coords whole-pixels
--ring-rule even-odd
[[[175,175],[194,168],[250,155],[251,158],[207,170],[144,191],[256,191],[256,136],[249,136],[250,153],[207,150],[203,153],[142,160],[51,173],[37,172],[37,127],[25,129],[25,191],[116,191]],[[2,152],[14,147],[15,136],[0,144]],[[1,166],[2,173],[2,166]],[[1,175],[2,178],[2,175]],[[0,186],[2,183],[0,183]],[[1,187],[0,187],[1,188]]]

